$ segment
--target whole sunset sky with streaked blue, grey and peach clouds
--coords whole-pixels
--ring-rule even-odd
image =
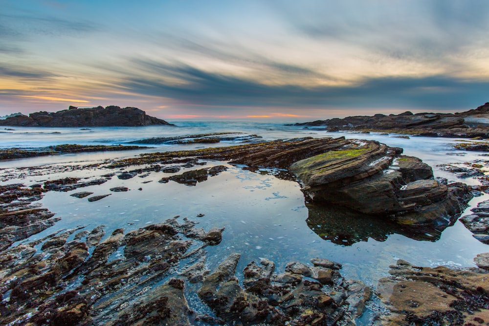
[[[487,0],[0,0],[0,115],[308,121],[489,102]]]

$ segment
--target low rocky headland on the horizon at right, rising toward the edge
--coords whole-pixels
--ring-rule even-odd
[[[489,137],[489,102],[477,109],[461,113],[416,113],[375,114],[373,116],[350,116],[312,122],[296,123],[294,126],[324,127],[328,131],[358,130],[408,133],[429,137]]]

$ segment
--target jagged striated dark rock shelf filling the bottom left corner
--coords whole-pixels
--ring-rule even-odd
[[[220,242],[194,225],[169,219],[127,234],[116,229],[105,240],[100,225],[3,247],[0,324],[188,325],[184,282],[171,276],[181,259],[199,259],[202,248]],[[202,245],[187,252],[195,241]]]

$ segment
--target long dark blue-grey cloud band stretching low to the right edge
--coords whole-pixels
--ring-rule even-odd
[[[138,59],[138,67],[151,71],[126,73],[125,91],[172,98],[182,105],[282,106],[295,108],[470,108],[487,101],[489,81],[450,76],[365,78],[347,86],[267,85],[248,78],[204,71],[182,63]],[[178,82],[176,82],[177,80]]]

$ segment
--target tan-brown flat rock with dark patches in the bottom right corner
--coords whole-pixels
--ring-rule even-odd
[[[489,274],[482,268],[451,270],[399,260],[377,289],[391,310],[382,325],[487,325]]]

